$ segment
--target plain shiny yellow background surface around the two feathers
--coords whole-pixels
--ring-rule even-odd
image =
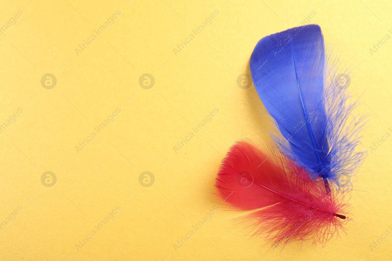
[[[0,232],[1,260],[387,260],[392,236],[369,245],[392,227],[391,146],[387,139],[356,176],[347,234],[325,247],[309,242],[273,251],[262,239],[241,236],[227,222],[241,212],[217,211],[174,250],[214,207],[214,178],[222,157],[243,137],[268,137],[265,109],[254,87],[237,77],[263,36],[310,19],[353,69],[349,89],[370,113],[363,148],[392,127],[392,36],[389,1],[1,1],[0,25],[23,14],[0,36],[0,221],[23,207]],[[75,49],[107,19],[113,25],[79,56]],[[173,49],[219,11],[177,56]],[[306,22],[306,20],[305,20]],[[41,77],[57,85],[47,90]],[[153,88],[139,85],[149,73]],[[131,98],[132,97],[132,98]],[[131,98],[131,99],[130,99]],[[120,108],[114,122],[79,153],[75,146]],[[214,108],[213,117],[183,149],[185,138]],[[53,187],[41,175],[53,171]],[[151,187],[139,183],[150,171]],[[363,192],[366,191],[366,192]],[[133,194],[132,194],[133,193]],[[131,196],[132,195],[132,196]],[[131,196],[131,197],[130,197]],[[76,249],[116,206],[115,219]]]

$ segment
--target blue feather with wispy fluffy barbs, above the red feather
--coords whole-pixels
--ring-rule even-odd
[[[254,86],[281,133],[274,136],[276,145],[322,178],[327,192],[332,182],[351,185],[366,155],[356,151],[364,117],[353,116],[356,101],[338,88],[339,68],[318,25],[266,36],[250,58]]]

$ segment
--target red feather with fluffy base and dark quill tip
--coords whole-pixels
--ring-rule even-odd
[[[311,239],[325,244],[344,231],[349,205],[346,193],[324,182],[260,142],[236,142],[223,159],[215,194],[224,207],[257,211],[236,218],[247,234],[273,245]]]

